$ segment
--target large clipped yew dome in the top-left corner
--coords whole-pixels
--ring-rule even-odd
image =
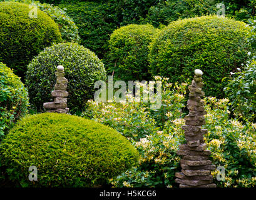
[[[28,4],[0,2],[0,61],[19,76],[24,75],[33,56],[61,41],[53,19],[40,10],[35,17],[31,10]]]

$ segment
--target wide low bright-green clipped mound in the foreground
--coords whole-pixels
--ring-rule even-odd
[[[23,118],[0,145],[8,179],[23,187],[92,187],[136,164],[138,152],[112,128],[68,114]],[[38,181],[28,180],[36,166]]]

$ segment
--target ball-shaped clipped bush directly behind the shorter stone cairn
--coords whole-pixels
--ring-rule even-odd
[[[68,108],[83,109],[86,100],[93,98],[95,82],[106,78],[106,70],[95,53],[71,42],[47,47],[28,65],[26,86],[31,104],[40,111],[43,103],[51,100],[58,65],[64,66],[65,78],[69,81]]]

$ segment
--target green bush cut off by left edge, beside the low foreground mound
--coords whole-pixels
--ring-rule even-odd
[[[0,62],[0,141],[28,108],[28,91],[18,76]]]

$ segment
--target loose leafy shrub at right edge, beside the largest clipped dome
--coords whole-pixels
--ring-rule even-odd
[[[232,111],[237,118],[256,122],[256,61],[245,69],[232,74],[225,93],[231,100]]]

